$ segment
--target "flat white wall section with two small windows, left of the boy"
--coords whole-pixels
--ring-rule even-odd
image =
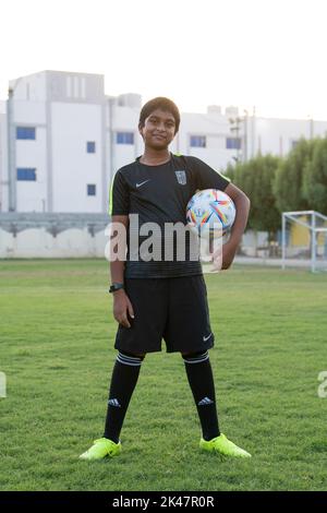
[[[101,106],[51,104],[53,212],[102,212]],[[95,141],[96,153],[86,152]],[[87,183],[96,195],[87,195]]]

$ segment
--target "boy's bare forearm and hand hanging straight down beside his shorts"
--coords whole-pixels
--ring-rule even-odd
[[[124,229],[125,230],[128,229],[128,226],[129,226],[128,215],[113,215],[111,220],[112,223],[122,224],[124,226]],[[110,242],[112,241],[112,238],[113,237],[111,237]],[[125,243],[125,240],[126,239],[124,238],[124,241],[120,240],[118,242],[122,244],[122,243]],[[124,249],[125,248],[122,248],[123,254],[125,253]],[[124,267],[125,267],[124,260],[114,260],[110,262],[111,283],[124,283]],[[116,321],[122,324],[124,327],[131,327],[128,314],[130,314],[130,317],[134,319],[134,311],[133,311],[133,306],[125,290],[123,288],[116,290],[114,293],[112,293],[112,296],[113,296],[113,317]]]

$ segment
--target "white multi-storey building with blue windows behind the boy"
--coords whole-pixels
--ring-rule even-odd
[[[142,98],[105,94],[104,76],[43,71],[10,81],[0,102],[0,212],[106,213],[118,168],[142,154]],[[183,112],[171,151],[217,170],[261,151],[284,155],[327,122],[257,118],[219,106]]]

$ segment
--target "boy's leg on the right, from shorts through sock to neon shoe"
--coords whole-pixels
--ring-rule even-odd
[[[214,346],[204,277],[171,278],[169,318],[165,332],[167,350],[185,360],[189,383],[202,425],[201,449],[227,456],[251,455],[219,432],[215,385],[207,350]]]

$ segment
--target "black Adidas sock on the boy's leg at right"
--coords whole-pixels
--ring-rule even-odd
[[[196,404],[203,438],[219,437],[215,384],[208,351],[184,356],[189,383]]]

